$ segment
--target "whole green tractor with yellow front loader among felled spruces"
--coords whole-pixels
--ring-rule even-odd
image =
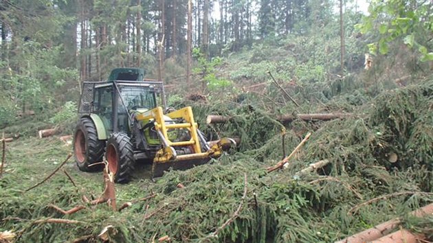
[[[152,175],[159,177],[170,168],[207,163],[234,143],[221,139],[209,146],[190,106],[165,113],[162,82],[144,80],[144,74],[118,68],[107,82],[84,82],[73,142],[80,170],[100,170],[105,157],[115,182],[127,183],[135,161],[151,159]]]

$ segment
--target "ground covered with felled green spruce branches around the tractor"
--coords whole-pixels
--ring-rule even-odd
[[[6,143],[0,232],[16,242],[332,242],[401,217],[395,231],[433,239],[431,216],[408,216],[433,201],[432,81],[384,92],[329,122],[282,124],[243,104],[193,108],[206,134],[240,137],[240,146],[156,181],[149,165],[137,166],[131,183],[115,185],[118,208],[131,203],[122,211],[82,199],[100,198],[104,178],[80,172],[73,158],[30,189],[71,152],[58,136]],[[206,126],[209,114],[232,119]],[[287,166],[267,170],[309,132]],[[328,163],[304,170],[320,161]],[[69,215],[56,209],[80,206]]]

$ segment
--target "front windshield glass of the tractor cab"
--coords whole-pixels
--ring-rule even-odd
[[[152,109],[157,106],[155,91],[148,86],[121,86],[120,93],[128,110],[137,108]],[[124,109],[122,103],[119,104],[119,108]]]

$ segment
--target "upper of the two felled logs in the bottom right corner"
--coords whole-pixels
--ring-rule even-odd
[[[420,209],[417,209],[415,211],[412,211],[410,215],[415,217],[422,217],[427,214],[433,213],[433,203],[430,203],[429,205],[426,205],[424,207],[421,207]],[[383,222],[381,224],[376,225],[373,228],[366,229],[365,231],[356,233],[355,235],[352,235],[344,240],[340,240],[339,242],[335,243],[362,243],[362,242],[370,242],[373,240],[376,240],[378,238],[384,237],[384,235],[387,235],[388,233],[392,232],[395,228],[399,227],[399,224],[401,223],[401,220],[399,218],[395,218],[386,222]]]

